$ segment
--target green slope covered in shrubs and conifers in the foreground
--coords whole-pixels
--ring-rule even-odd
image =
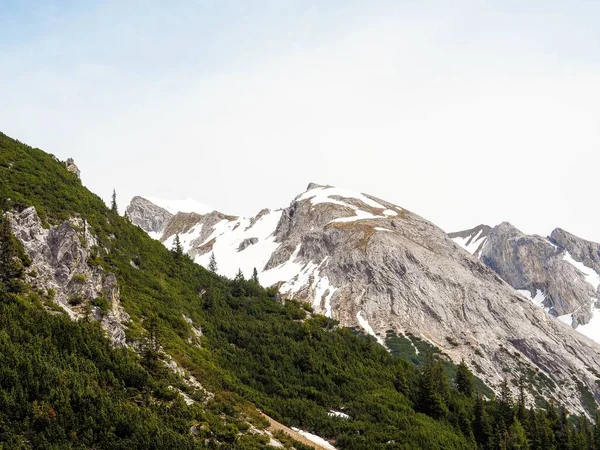
[[[97,238],[88,264],[116,275],[129,346],[114,348],[92,315],[72,321],[51,290],[31,287],[36,273],[5,216],[0,448],[265,448],[256,408],[338,449],[600,448],[600,430],[562,408],[528,409],[507,384],[484,399],[464,364],[446,370],[435,352],[404,360],[307,305],[195,265],[62,162],[0,134],[2,212],[29,206],[46,227],[87,221]],[[104,312],[106,301],[82,299]],[[205,391],[168,370],[166,355]]]

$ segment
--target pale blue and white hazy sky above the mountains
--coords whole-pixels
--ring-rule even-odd
[[[600,2],[0,0],[0,131],[124,208],[309,182],[600,241]]]

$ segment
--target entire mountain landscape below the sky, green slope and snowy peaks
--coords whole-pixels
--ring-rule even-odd
[[[79,176],[0,133],[0,449],[600,448],[598,244]]]

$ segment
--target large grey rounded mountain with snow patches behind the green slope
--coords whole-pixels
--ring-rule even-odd
[[[428,342],[473,367],[497,389],[511,374],[530,384],[531,400],[553,398],[592,412],[600,398],[600,348],[552,320],[479,259],[418,215],[367,194],[310,184],[287,208],[255,217],[179,213],[151,230],[232,277],[256,268],[265,286],[287,299],[360,329],[383,345]],[[136,213],[152,217],[153,213]],[[481,226],[460,239],[484,252],[494,230]],[[552,245],[548,243],[550,247]],[[582,250],[583,251],[583,250]],[[516,386],[512,386],[516,391]]]

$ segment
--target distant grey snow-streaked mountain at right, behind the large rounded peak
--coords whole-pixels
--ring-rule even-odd
[[[481,230],[486,230],[481,233]],[[600,342],[600,245],[556,228],[527,235],[510,223],[450,233],[548,314]],[[477,249],[469,242],[478,242]]]

